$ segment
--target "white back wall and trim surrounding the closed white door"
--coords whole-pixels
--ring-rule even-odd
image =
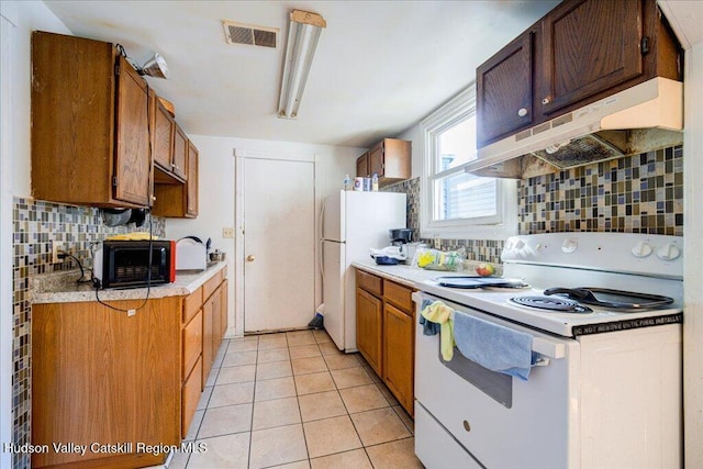
[[[276,119],[276,118],[271,118]],[[168,219],[166,237],[179,239],[194,235],[203,242],[212,238],[212,247],[227,253],[227,277],[230,280],[227,336],[243,335],[241,321],[235,317],[235,239],[223,238],[223,227],[235,226],[235,158],[234,149],[249,152],[278,152],[281,154],[309,154],[315,156],[315,199],[317,210],[322,199],[343,187],[345,174],[354,176],[356,158],[364,148],[333,147],[325,145],[289,142],[254,141],[231,137],[190,135],[200,154],[200,185],[198,196],[198,219]],[[317,231],[317,237],[320,232]],[[315,304],[322,302],[321,275],[317,266],[315,281]],[[312,319],[312,312],[311,312]],[[236,327],[235,327],[236,325]]]

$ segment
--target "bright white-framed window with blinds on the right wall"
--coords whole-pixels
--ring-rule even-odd
[[[477,158],[476,91],[464,91],[422,124],[421,236],[503,238],[516,233],[515,182],[465,172]]]

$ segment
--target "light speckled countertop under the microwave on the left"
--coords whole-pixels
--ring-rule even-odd
[[[177,271],[175,282],[152,286],[148,289],[148,298],[188,295],[226,266],[227,260],[223,260],[209,266],[203,271]],[[76,303],[96,301],[96,289],[90,283],[76,283],[78,277],[80,277],[78,270],[35,276],[31,280],[31,302]],[[142,300],[146,298],[146,288],[107,289],[98,290],[97,292],[101,301]]]

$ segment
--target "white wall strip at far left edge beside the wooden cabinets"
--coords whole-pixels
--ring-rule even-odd
[[[12,440],[12,198],[30,194],[30,37],[70,34],[38,1],[2,1],[0,93],[0,445]],[[0,467],[11,467],[0,451]]]

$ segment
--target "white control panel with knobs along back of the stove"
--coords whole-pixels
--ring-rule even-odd
[[[590,232],[521,235],[505,242],[501,259],[504,263],[680,277],[683,275],[683,238]]]

